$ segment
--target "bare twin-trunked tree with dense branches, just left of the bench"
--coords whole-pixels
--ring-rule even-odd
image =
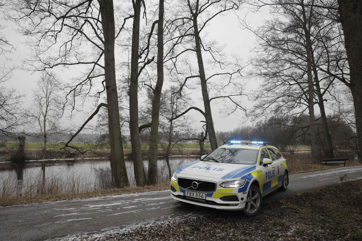
[[[324,101],[331,95],[335,78],[320,70],[331,53],[336,26],[325,16],[328,10],[311,5],[313,1],[270,1],[271,12],[286,20],[273,19],[257,31],[253,31],[245,21],[243,25],[252,30],[259,39],[254,61],[257,76],[266,84],[258,92],[255,106],[258,115],[268,115],[269,111],[284,111],[287,115],[300,115],[308,110],[310,117],[312,158],[317,159],[317,128],[315,126],[314,104],[321,112],[325,145],[323,150],[328,158],[333,158],[333,145],[325,114]],[[290,4],[289,4],[290,3]],[[333,36],[334,35],[334,36]],[[321,43],[320,40],[324,40]],[[334,48],[334,47],[333,47]],[[315,97],[316,96],[316,97]],[[327,97],[328,96],[328,97]],[[266,101],[266,99],[268,99]],[[303,107],[304,106],[304,107]],[[299,108],[298,111],[295,111]]]

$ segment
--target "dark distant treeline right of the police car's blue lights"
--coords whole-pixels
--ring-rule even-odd
[[[355,145],[355,133],[351,126],[341,115],[330,114],[327,116],[328,127],[332,137],[333,148]],[[320,119],[317,117],[317,136],[319,148],[324,149],[325,139]],[[282,150],[292,148],[296,145],[310,145],[309,116],[304,114],[298,118],[284,118],[273,116],[269,119],[256,122],[253,126],[240,126],[230,131],[220,131],[220,139],[269,141],[270,144],[278,146]]]

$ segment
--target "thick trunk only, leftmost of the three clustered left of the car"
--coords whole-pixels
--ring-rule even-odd
[[[101,0],[100,12],[104,35],[104,73],[107,93],[108,129],[111,148],[111,172],[116,188],[129,186],[119,123],[117,82],[114,59],[114,8],[113,0]]]

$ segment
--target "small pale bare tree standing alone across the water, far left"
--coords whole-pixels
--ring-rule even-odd
[[[62,118],[62,82],[54,72],[43,72],[33,90],[33,116],[37,128],[44,140],[43,151],[47,149],[47,138],[59,133],[59,121]]]

